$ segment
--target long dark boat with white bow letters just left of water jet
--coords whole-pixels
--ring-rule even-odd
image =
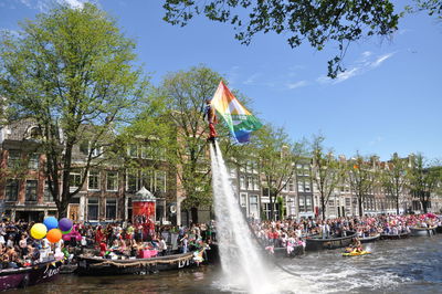
[[[204,252],[206,249],[166,256],[127,260],[80,255],[76,273],[80,275],[122,275],[180,270],[198,265],[202,261]]]

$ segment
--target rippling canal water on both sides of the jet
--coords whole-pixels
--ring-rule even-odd
[[[275,293],[442,293],[442,234],[365,244],[372,254],[308,252],[269,264]],[[241,293],[225,287],[219,265],[150,275],[61,275],[11,293]]]

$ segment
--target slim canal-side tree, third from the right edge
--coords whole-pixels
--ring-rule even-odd
[[[372,160],[364,158],[359,154],[348,160],[346,169],[347,181],[358,199],[359,217],[362,217],[364,202],[378,180],[378,171]]]

